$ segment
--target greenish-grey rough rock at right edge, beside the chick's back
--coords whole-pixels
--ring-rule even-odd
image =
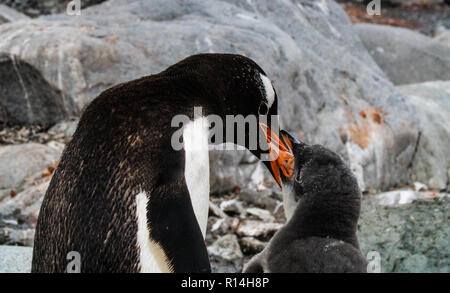
[[[364,254],[377,251],[382,272],[450,272],[448,196],[404,205],[363,201],[359,241]]]

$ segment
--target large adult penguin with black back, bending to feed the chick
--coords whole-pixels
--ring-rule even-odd
[[[193,120],[194,107],[223,121],[270,121],[277,96],[255,62],[231,54],[191,56],[103,92],[84,111],[43,200],[33,272],[65,272],[71,251],[81,272],[210,271],[202,235],[208,149],[189,148],[208,142],[208,127]],[[171,144],[171,120],[181,114],[193,120],[183,128],[186,151]],[[283,163],[266,165],[279,181]]]

